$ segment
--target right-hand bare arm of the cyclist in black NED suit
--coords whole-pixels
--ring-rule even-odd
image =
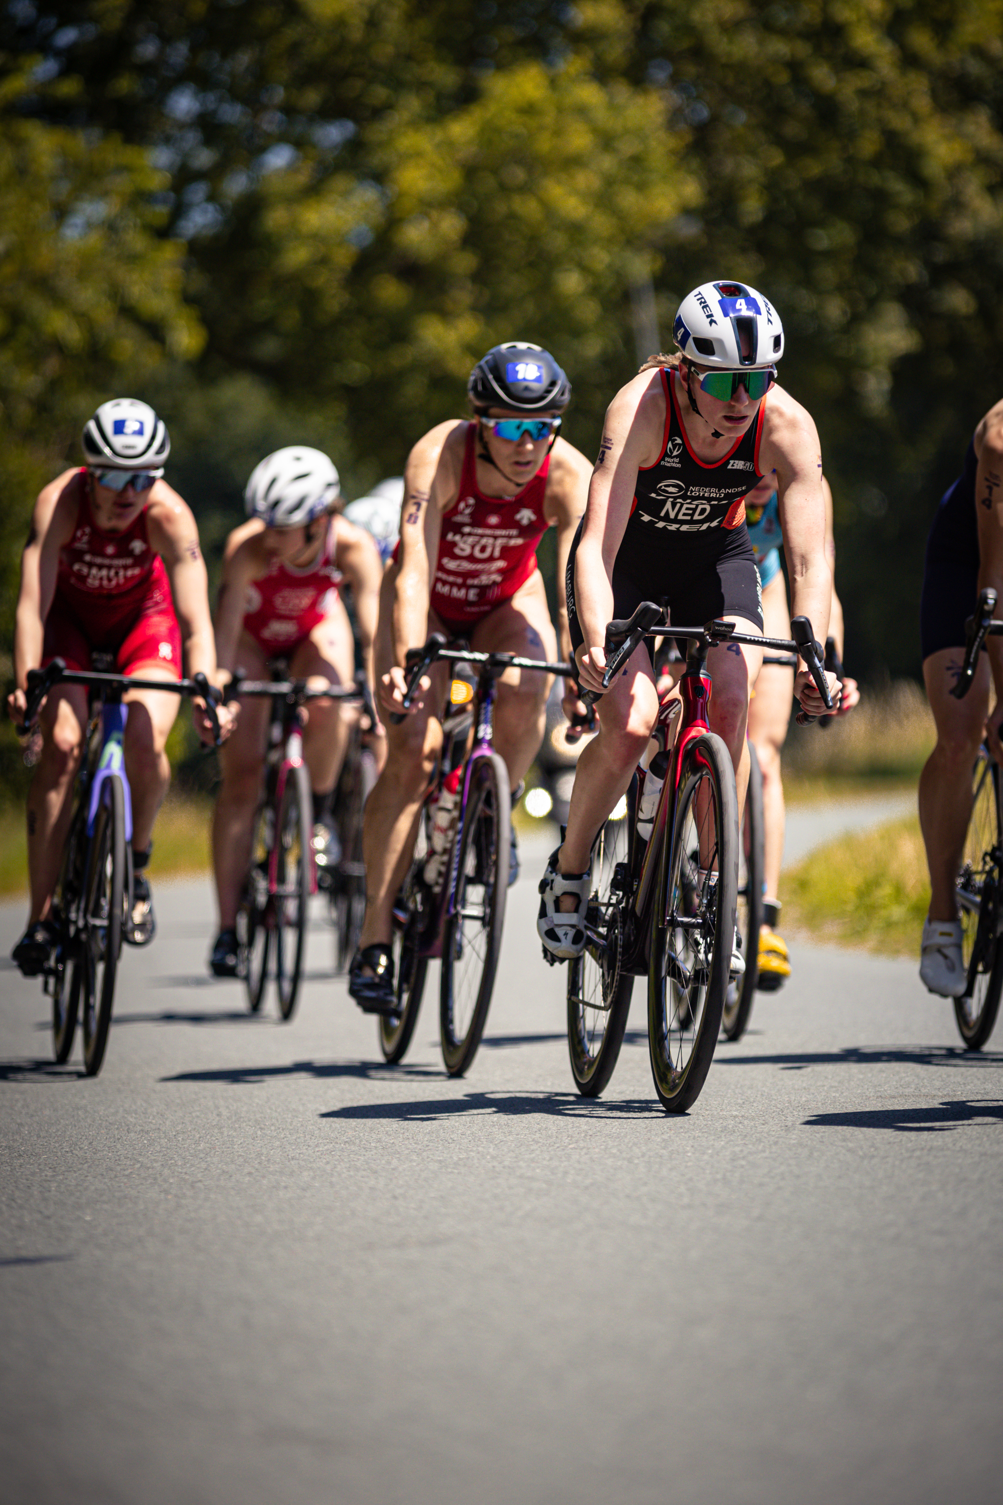
[[[765,402],[759,470],[776,471],[783,552],[791,579],[791,616],[808,617],[817,640],[824,643],[833,576],[826,558],[826,497],[818,430],[811,414],[782,387],[774,387]],[[794,680],[794,694],[811,715],[824,712],[823,698],[806,668]]]

